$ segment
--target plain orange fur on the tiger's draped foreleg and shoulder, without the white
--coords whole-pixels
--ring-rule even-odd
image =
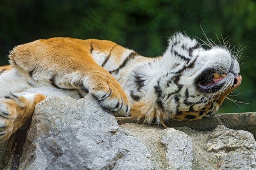
[[[114,46],[116,43],[107,40],[51,38],[18,45],[13,48],[9,58],[12,66],[23,75],[28,75],[35,68],[47,68],[48,74],[62,75],[78,71],[95,82],[96,91],[103,90],[109,93],[108,88],[111,86],[113,94],[111,96],[118,97],[120,94],[124,99],[123,102],[129,105],[128,97],[119,82],[108,71],[97,65],[90,54],[91,48],[108,53]],[[113,53],[120,55],[124,49],[118,46],[113,49]],[[70,88],[74,86],[80,88],[75,84],[70,85]]]

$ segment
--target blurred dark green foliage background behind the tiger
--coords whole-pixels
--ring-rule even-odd
[[[256,2],[253,0],[0,0],[0,65],[22,43],[50,37],[117,42],[144,56],[163,54],[167,37],[184,31],[203,40],[242,44],[241,86],[221,113],[256,111]],[[240,94],[241,93],[241,94]]]

